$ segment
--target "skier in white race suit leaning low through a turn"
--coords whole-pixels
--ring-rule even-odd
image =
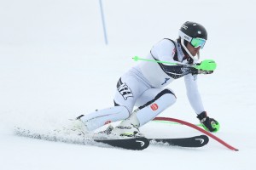
[[[143,136],[138,127],[158,116],[176,102],[176,95],[165,88],[173,80],[184,77],[189,103],[197,118],[210,132],[218,129],[212,123],[218,122],[207,116],[201,94],[197,88],[198,74],[211,74],[213,71],[198,70],[187,65],[200,65],[200,49],[207,41],[207,30],[198,23],[187,21],[181,26],[176,41],[163,39],[151,49],[147,59],[169,61],[165,63],[141,62],[127,71],[117,82],[113,99],[114,106],[82,115],[76,119],[76,127],[88,133],[109,122],[120,122],[119,126],[109,126],[106,130],[118,136]],[[185,65],[184,65],[185,64]],[[138,106],[136,110],[134,106]]]

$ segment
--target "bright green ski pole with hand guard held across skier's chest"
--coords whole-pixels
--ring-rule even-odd
[[[154,62],[154,63],[163,63],[166,65],[186,65],[183,63],[172,63],[169,61],[160,61],[160,60],[155,60],[155,59],[143,59],[138,56],[135,56],[132,59],[135,61],[143,60],[143,61],[149,61],[149,62]],[[201,62],[200,65],[186,65],[186,66],[193,67],[197,70],[202,70],[202,71],[214,71],[217,67],[217,64],[215,63],[215,61],[213,59],[205,59]]]

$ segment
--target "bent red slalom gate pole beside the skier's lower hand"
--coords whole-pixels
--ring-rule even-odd
[[[194,124],[192,124],[190,122],[184,122],[182,120],[174,119],[174,118],[171,118],[171,117],[155,117],[154,121],[178,122],[180,124],[187,125],[189,127],[195,128],[196,130],[200,131],[201,133],[207,134],[209,137],[211,137],[212,139],[217,140],[220,144],[223,144],[224,146],[226,146],[230,150],[238,151],[236,148],[234,148],[230,144],[225,143],[222,139],[219,139],[217,136],[213,135],[212,133],[207,132],[206,130],[202,129],[201,127],[197,127],[197,126],[195,126]]]

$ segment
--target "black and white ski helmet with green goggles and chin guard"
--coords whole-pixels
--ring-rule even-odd
[[[181,28],[179,29],[178,35],[179,37],[181,37],[181,43],[183,48],[192,59],[195,59],[195,57],[189,53],[189,50],[188,48],[186,48],[184,41],[189,42],[195,48],[198,48],[199,46],[203,48],[207,41],[206,28],[196,22],[190,22],[190,21],[185,22],[183,26],[181,26]],[[198,59],[199,59],[199,54],[198,54]]]

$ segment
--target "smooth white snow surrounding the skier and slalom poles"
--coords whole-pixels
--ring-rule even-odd
[[[0,3],[0,168],[55,169],[254,169],[256,80],[254,0],[103,1],[105,46],[98,1],[11,0]],[[149,146],[143,151],[65,144],[16,136],[26,127],[47,131],[69,118],[113,105],[115,84],[155,42],[177,38],[186,20],[206,26],[202,59],[218,69],[200,76],[205,108],[218,120],[200,149]],[[183,79],[169,88],[177,103],[160,116],[198,123]],[[181,125],[149,122],[148,137],[201,134]]]

